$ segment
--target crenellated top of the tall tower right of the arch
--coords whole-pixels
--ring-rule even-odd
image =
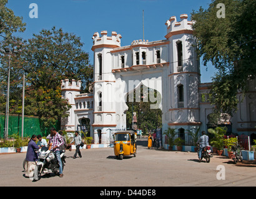
[[[170,17],[169,20],[165,22],[165,25],[167,27],[167,35],[165,35],[165,38],[169,38],[172,35],[176,34],[193,34],[192,29],[192,21],[187,21],[187,14],[180,14],[180,21],[177,21],[175,16]]]

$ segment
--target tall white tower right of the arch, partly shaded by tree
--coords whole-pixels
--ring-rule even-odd
[[[179,129],[185,139],[184,130],[200,126],[199,83],[200,67],[195,52],[192,24],[187,14],[175,16],[165,23],[169,40],[170,83],[170,127]]]

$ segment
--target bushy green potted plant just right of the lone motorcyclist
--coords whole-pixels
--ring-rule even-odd
[[[227,132],[225,127],[216,127],[215,129],[208,129],[208,132],[214,137],[211,139],[210,144],[212,147],[217,148],[217,154],[222,155],[224,148],[224,135]]]

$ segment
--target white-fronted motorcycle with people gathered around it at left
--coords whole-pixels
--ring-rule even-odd
[[[39,180],[41,174],[58,174],[59,164],[57,157],[49,150],[47,147],[42,147],[39,150],[36,150],[38,154],[38,162],[36,163],[36,168],[34,169],[34,180]],[[65,153],[61,153],[62,169],[64,169],[64,163],[66,163]]]

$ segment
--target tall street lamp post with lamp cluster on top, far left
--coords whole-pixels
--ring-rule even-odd
[[[9,93],[10,93],[10,72],[11,72],[11,55],[17,53],[16,49],[10,50],[8,47],[5,47],[4,50],[1,49],[1,52],[9,56],[8,63],[8,82],[7,82],[7,96],[6,96],[6,123],[5,123],[5,132],[4,138],[8,139],[8,127],[9,127]]]

